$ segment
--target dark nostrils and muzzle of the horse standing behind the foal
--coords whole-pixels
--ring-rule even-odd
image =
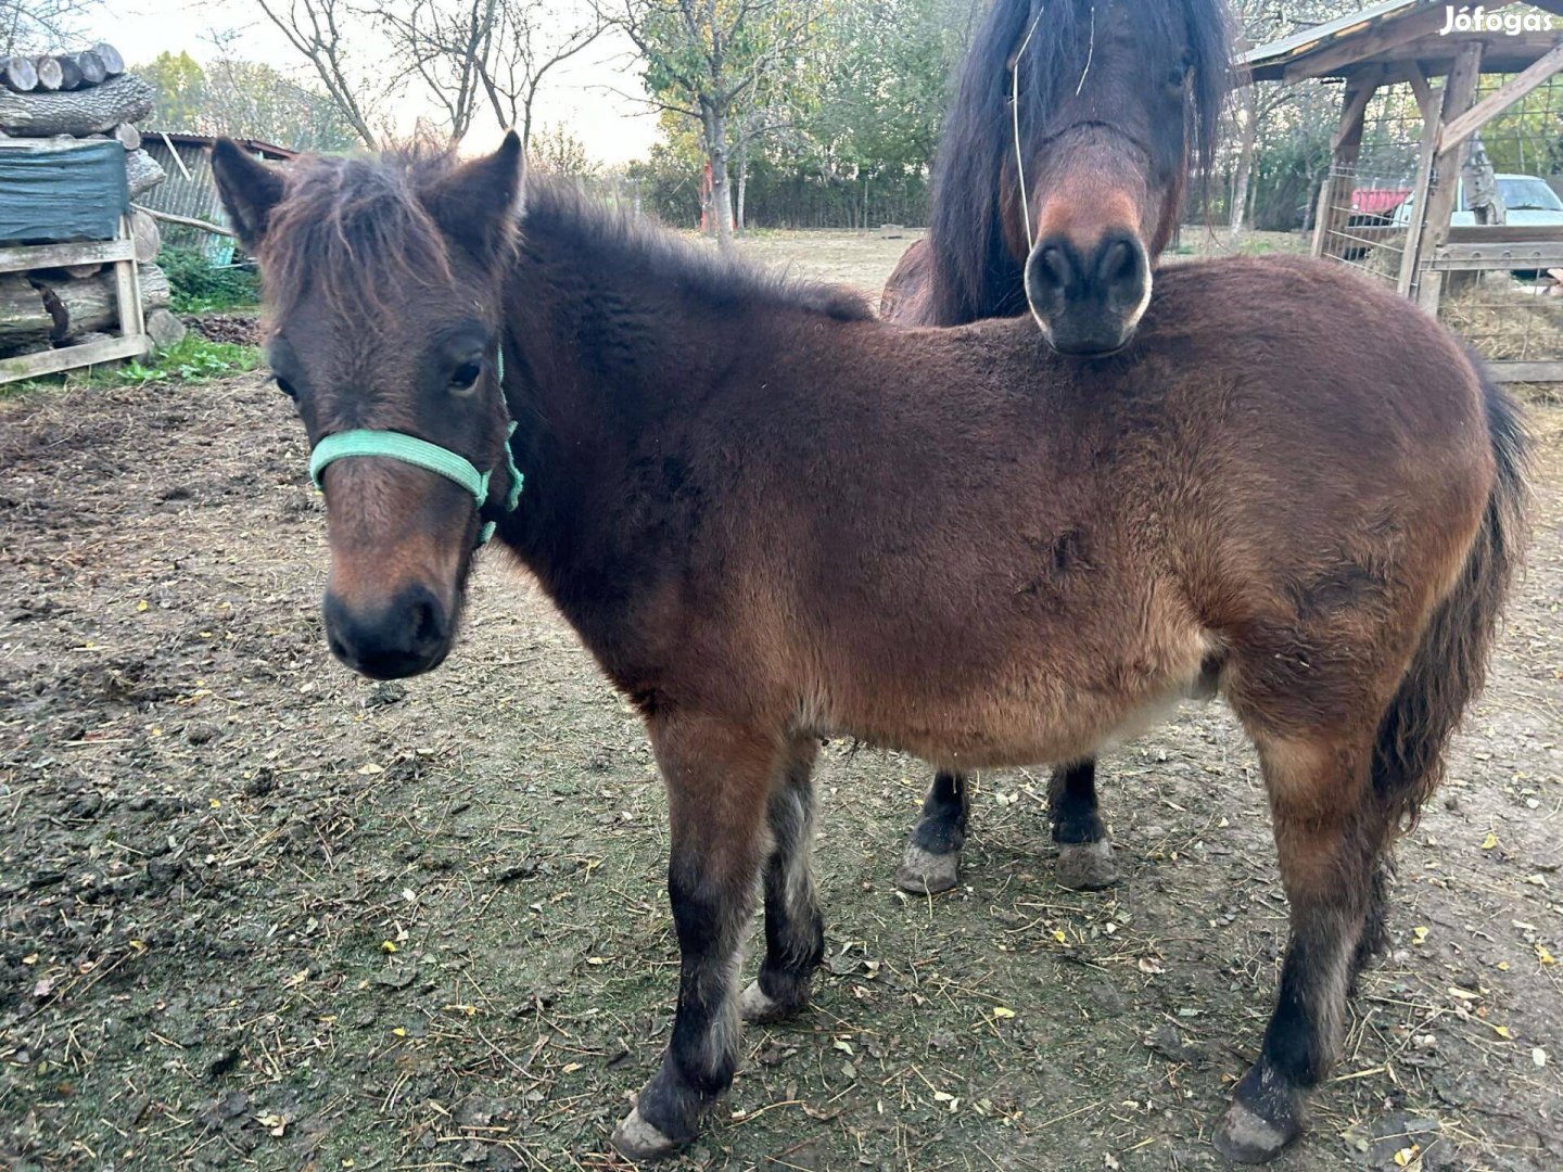
[[[1025,300],[1060,353],[1113,353],[1135,336],[1150,303],[1150,258],[1125,230],[1085,248],[1063,234],[1044,236],[1025,261]]]

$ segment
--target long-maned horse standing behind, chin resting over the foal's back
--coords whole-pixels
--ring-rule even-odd
[[[1030,294],[1060,352],[1122,347],[1189,161],[1210,163],[1229,39],[1222,0],[996,0],[946,119],[928,236],[891,275],[882,314],[966,325],[1022,314]],[[1060,881],[1107,886],[1096,761],[1061,764],[1049,791]],[[969,802],[966,777],[935,777],[897,884],[955,886]]]

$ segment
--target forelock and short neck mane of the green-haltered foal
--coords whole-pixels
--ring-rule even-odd
[[[372,302],[383,289],[450,283],[449,244],[422,195],[455,166],[450,152],[425,147],[295,164],[259,248],[274,314],[295,311],[309,288],[342,309]],[[528,231],[564,238],[574,256],[633,269],[649,288],[677,288],[716,305],[791,306],[842,320],[874,316],[850,289],[719,256],[633,222],[570,181],[530,175],[525,198],[522,238]]]

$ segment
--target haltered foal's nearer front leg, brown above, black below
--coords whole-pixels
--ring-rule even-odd
[[[736,977],[764,852],[777,741],[730,722],[650,722],[667,786],[667,897],[678,934],[678,1009],[663,1064],[613,1144],[631,1159],[696,1138],[703,1111],[733,1081],[741,1024]]]

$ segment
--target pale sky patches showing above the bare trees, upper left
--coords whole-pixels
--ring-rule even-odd
[[[83,28],[86,41],[108,41],[131,66],[150,61],[158,53],[186,52],[200,63],[216,56],[213,31],[238,30],[236,56],[261,61],[302,81],[313,83],[308,61],[288,44],[258,6],[249,3],[202,3],[200,0],[108,0]],[[355,36],[366,50],[372,33]],[[369,53],[366,52],[366,56]],[[319,88],[317,84],[314,88]],[[621,92],[613,92],[621,91]],[[542,84],[533,130],[539,125],[564,123],[586,144],[600,163],[621,164],[644,158],[656,138],[656,119],[641,103],[621,94],[641,94],[641,80],[622,34],[610,33],[583,53],[556,66]],[[438,114],[416,88],[397,103],[394,117],[402,130],[410,130],[419,114]],[[488,150],[499,142],[500,128],[492,117],[481,116],[467,134],[463,148]]]

